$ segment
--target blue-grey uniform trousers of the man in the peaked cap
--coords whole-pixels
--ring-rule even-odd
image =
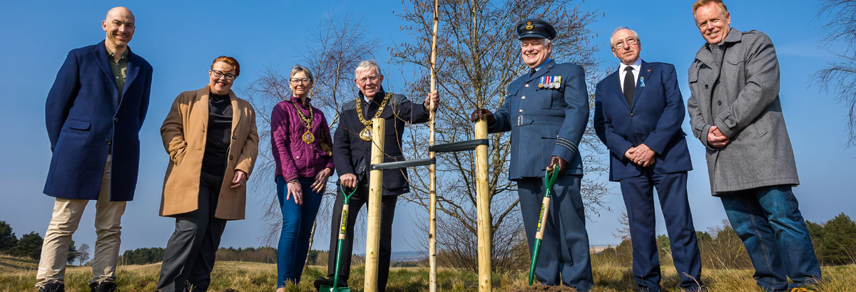
[[[563,283],[580,292],[591,289],[591,258],[589,256],[586,213],[580,196],[580,175],[560,175],[553,185],[550,211],[544,222],[544,240],[535,266],[535,278],[546,285]],[[529,253],[535,244],[535,234],[544,199],[544,178],[517,180],[520,213]]]

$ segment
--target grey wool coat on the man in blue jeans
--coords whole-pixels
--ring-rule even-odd
[[[772,41],[764,32],[731,28],[722,46],[721,67],[704,44],[688,79],[690,126],[707,150],[713,195],[800,184],[779,102],[779,61]],[[731,139],[725,147],[708,144],[711,126]]]

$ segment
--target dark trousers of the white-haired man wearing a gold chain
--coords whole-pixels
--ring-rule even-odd
[[[351,269],[351,253],[354,246],[354,223],[357,221],[357,215],[360,214],[360,208],[368,202],[369,187],[368,179],[360,181],[357,185],[357,191],[351,196],[350,204],[348,205],[348,226],[345,229],[345,241],[342,245],[342,258],[339,265],[339,278],[346,282],[350,277]],[[330,254],[327,259],[327,274],[333,278],[336,272],[336,242],[339,239],[339,225],[342,219],[342,202],[344,196],[342,192],[336,195],[336,204],[333,207],[333,219],[330,220]],[[377,263],[377,291],[383,292],[386,289],[386,281],[389,278],[389,256],[392,254],[392,220],[395,219],[395,203],[398,201],[398,196],[381,196],[381,211],[380,211],[380,250]],[[367,208],[367,207],[366,207]]]

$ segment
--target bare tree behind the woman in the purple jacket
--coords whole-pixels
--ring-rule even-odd
[[[342,30],[342,27],[348,27],[348,29]],[[354,69],[360,61],[371,59],[373,50],[377,47],[377,38],[372,37],[366,28],[365,20],[354,18],[353,15],[330,15],[321,20],[318,30],[312,33],[310,45],[301,53],[303,62],[301,66],[310,68],[314,75],[312,90],[309,93],[312,106],[324,112],[330,122],[331,131],[336,129],[342,104],[357,96],[357,89],[353,83]],[[253,104],[253,108],[256,108],[257,119],[262,123],[259,127],[259,159],[254,172],[261,178],[272,178],[276,172],[276,162],[270,151],[270,114],[276,103],[287,100],[291,96],[288,73],[268,67],[261,73],[259,79],[253,81],[245,90],[249,96],[248,101]],[[265,193],[268,197],[268,207],[264,216],[268,232],[262,240],[267,245],[273,246],[282,228],[282,214],[279,210],[276,190],[270,184],[256,184],[255,187],[257,192]],[[321,210],[330,210],[330,212],[318,212],[318,219],[315,225],[312,225],[310,247],[312,247],[312,238],[318,223],[329,223],[331,217],[338,216],[337,214],[331,216],[336,191],[338,190],[335,184],[327,184]]]

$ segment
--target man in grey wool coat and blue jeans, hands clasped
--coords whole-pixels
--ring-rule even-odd
[[[800,180],[779,102],[776,50],[763,32],[730,28],[721,0],[696,1],[693,15],[706,44],[689,68],[687,109],[707,149],[710,189],[746,246],[758,286],[801,291],[821,274],[791,190]]]

